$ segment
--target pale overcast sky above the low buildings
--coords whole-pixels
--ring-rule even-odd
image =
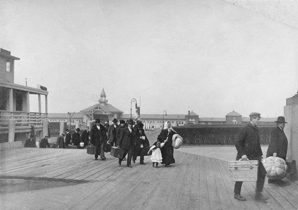
[[[15,83],[46,86],[49,113],[104,88],[125,113],[141,97],[141,114],[276,117],[298,89],[298,29],[223,0],[0,0],[0,25]]]

